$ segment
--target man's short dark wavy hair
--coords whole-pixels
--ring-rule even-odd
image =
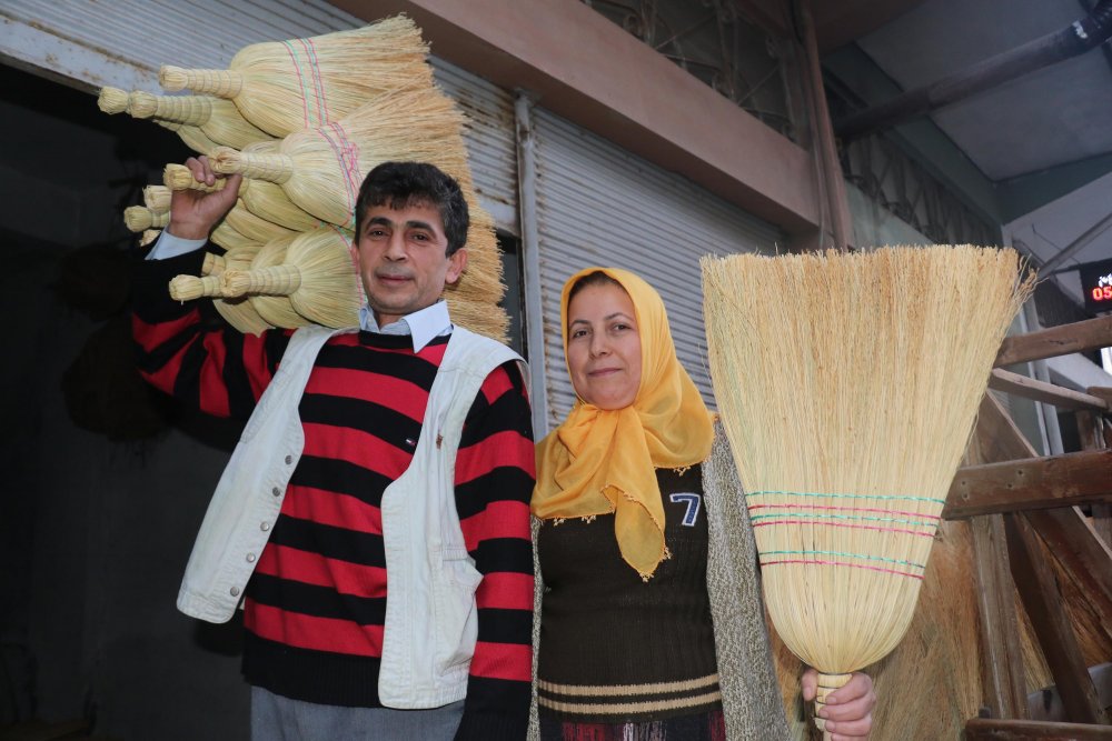
[[[356,236],[363,231],[363,220],[371,207],[404,209],[430,206],[440,212],[444,236],[448,239],[448,256],[467,242],[470,217],[467,201],[455,178],[427,162],[383,162],[367,173],[355,204]]]

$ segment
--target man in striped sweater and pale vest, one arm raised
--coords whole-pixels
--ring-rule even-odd
[[[206,158],[188,167],[215,182]],[[250,415],[178,607],[242,601],[255,739],[520,739],[532,667],[533,432],[520,359],[453,327],[467,206],[430,164],[384,163],[356,206],[358,331],[260,338],[169,299],[239,177],[175,193],[136,281],[148,381]]]

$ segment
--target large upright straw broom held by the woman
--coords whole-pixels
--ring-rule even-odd
[[[776,632],[818,702],[915,608],[992,363],[1032,290],[1012,250],[704,258],[715,398]],[[816,723],[822,728],[821,721]]]

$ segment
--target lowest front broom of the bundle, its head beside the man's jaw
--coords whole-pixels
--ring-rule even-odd
[[[356,327],[363,293],[347,241],[328,228],[298,234],[280,266],[228,270],[225,296],[288,296],[294,309],[325,327]]]

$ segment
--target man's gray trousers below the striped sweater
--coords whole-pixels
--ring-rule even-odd
[[[251,688],[251,741],[451,741],[464,701],[433,710],[339,708]]]

